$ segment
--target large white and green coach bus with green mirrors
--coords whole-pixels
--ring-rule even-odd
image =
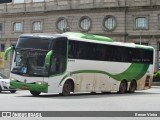
[[[98,35],[23,34],[13,52],[10,85],[43,93],[130,92],[151,88],[155,50]]]

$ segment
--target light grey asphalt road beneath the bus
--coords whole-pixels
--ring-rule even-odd
[[[29,91],[17,91],[15,94],[2,92],[0,111],[160,111],[160,87],[154,86],[152,89],[133,94],[81,93],[67,97],[58,94],[33,97]]]

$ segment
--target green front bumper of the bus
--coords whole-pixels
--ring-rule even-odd
[[[12,88],[18,88],[22,90],[30,90],[30,91],[37,91],[37,92],[48,92],[48,84],[36,84],[36,83],[24,83],[24,82],[19,82],[16,80],[11,80],[10,81],[10,87]]]

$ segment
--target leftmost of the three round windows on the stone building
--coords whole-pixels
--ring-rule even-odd
[[[65,18],[59,18],[56,23],[57,29],[61,32],[67,28],[67,20]]]

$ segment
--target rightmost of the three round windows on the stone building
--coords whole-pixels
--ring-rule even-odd
[[[103,26],[106,30],[112,31],[116,28],[116,18],[113,16],[106,16],[103,21]]]

